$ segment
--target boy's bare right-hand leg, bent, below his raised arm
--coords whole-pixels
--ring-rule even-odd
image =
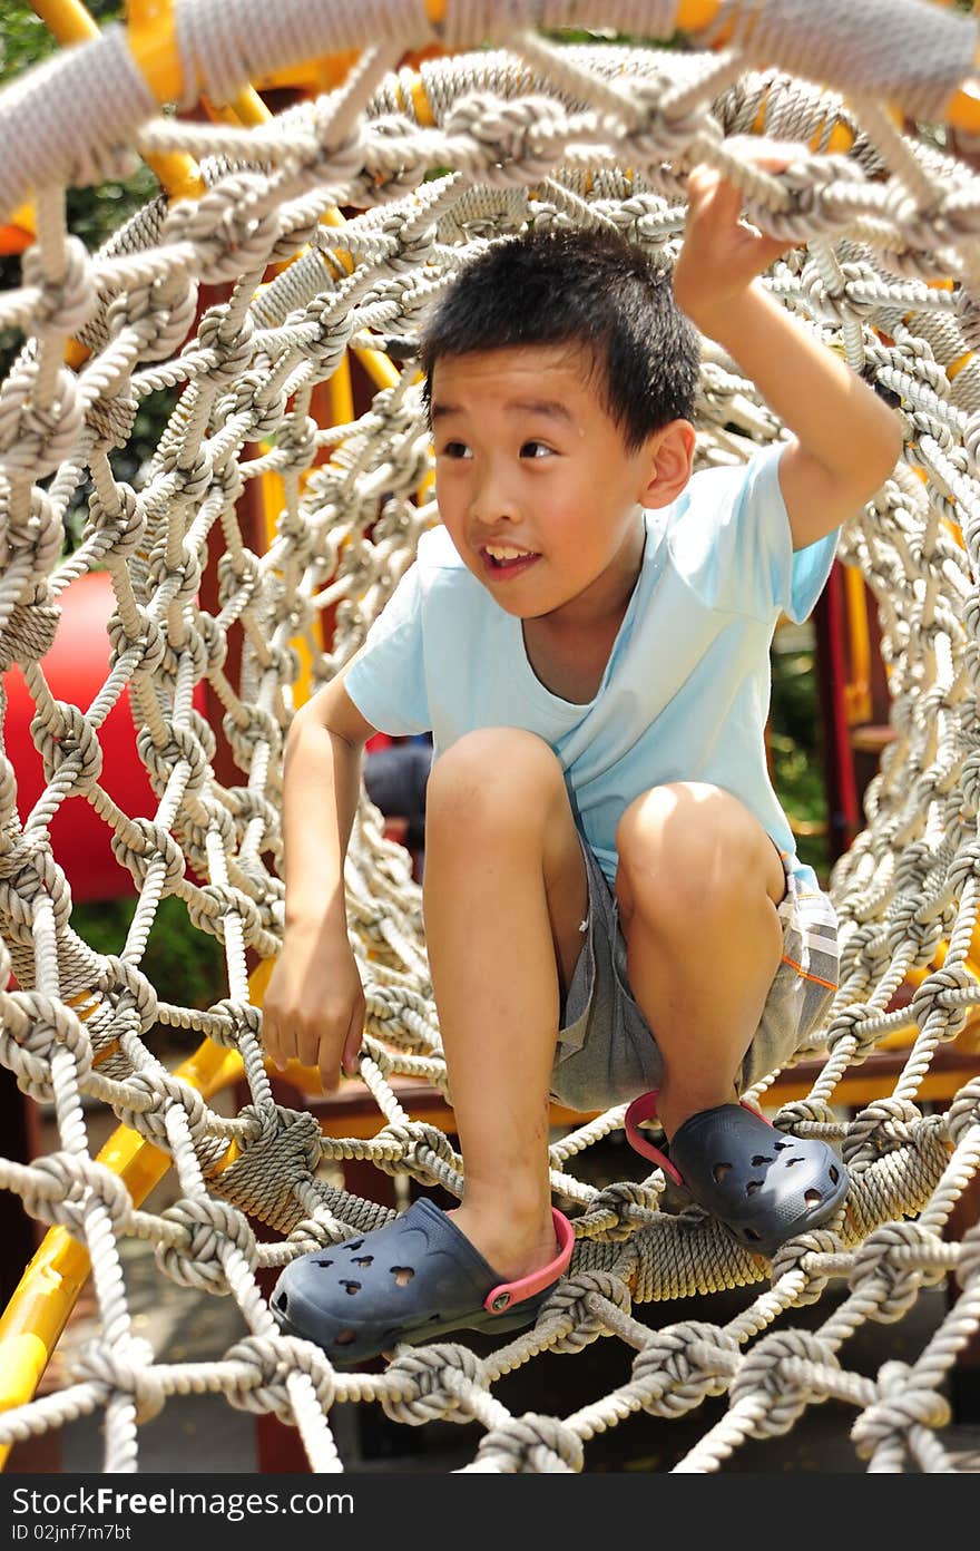
[[[758,820],[716,786],[654,786],[625,811],[617,848],[630,985],[664,1056],[670,1138],[737,1098],[780,963],[785,876]]]

